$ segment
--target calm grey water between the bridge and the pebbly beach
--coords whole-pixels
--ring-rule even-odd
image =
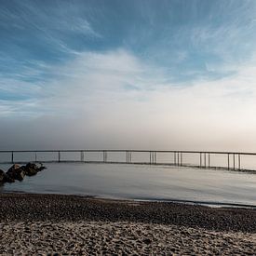
[[[62,163],[47,164],[47,169],[36,176],[7,183],[0,191],[256,206],[256,174],[204,168]]]

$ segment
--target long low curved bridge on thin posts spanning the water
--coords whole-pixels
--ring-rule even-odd
[[[182,150],[0,150],[0,164],[111,163],[256,170],[256,153]]]

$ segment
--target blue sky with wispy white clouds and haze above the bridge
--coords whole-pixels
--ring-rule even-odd
[[[0,149],[256,152],[256,1],[0,0]]]

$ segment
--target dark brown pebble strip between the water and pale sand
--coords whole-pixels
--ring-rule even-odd
[[[256,233],[256,209],[83,195],[3,193],[0,194],[0,222],[5,221],[152,222]]]

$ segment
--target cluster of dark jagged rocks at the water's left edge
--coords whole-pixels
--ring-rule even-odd
[[[28,163],[26,166],[14,164],[7,170],[7,173],[0,169],[0,182],[15,182],[15,180],[21,182],[25,175],[34,176],[38,171],[44,168],[42,164],[40,166],[34,163]]]

